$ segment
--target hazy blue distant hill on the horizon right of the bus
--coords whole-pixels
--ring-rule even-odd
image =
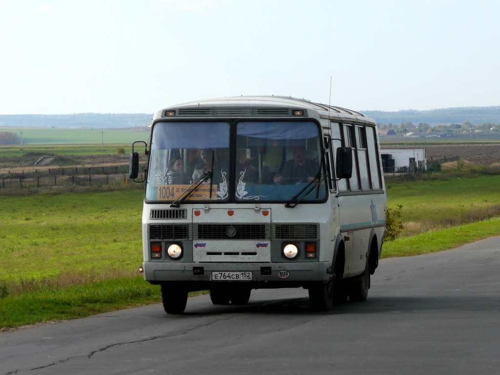
[[[429,125],[462,124],[468,121],[474,125],[481,123],[500,124],[500,106],[489,107],[457,107],[431,110],[399,110],[397,112],[384,112],[380,110],[361,110],[361,113],[372,117],[378,124],[399,124],[410,121],[414,125],[420,122]]]

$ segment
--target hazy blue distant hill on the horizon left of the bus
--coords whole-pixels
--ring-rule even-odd
[[[109,129],[146,126],[152,113],[0,114],[0,126]]]

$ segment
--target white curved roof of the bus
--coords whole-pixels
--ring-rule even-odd
[[[342,117],[342,118],[350,118],[353,120],[363,120],[367,122],[375,121],[363,115],[362,113],[346,109],[334,105],[328,104],[320,104],[315,103],[307,99],[300,99],[291,96],[276,96],[276,95],[262,95],[262,96],[227,96],[227,97],[219,97],[219,98],[210,98],[210,99],[201,99],[201,100],[193,100],[185,103],[180,103],[176,105],[172,105],[166,107],[164,109],[159,110],[155,114],[155,118],[164,117],[164,113],[173,110],[173,109],[186,109],[192,108],[193,110],[202,108],[213,108],[213,107],[233,107],[233,108],[271,108],[271,107],[293,107],[296,109],[311,109],[318,111],[320,116],[327,117]],[[194,112],[193,112],[194,114]],[[201,114],[201,112],[199,113]],[[243,114],[243,113],[234,113],[234,114]]]

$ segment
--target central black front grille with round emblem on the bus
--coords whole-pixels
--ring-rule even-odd
[[[227,230],[229,227],[235,230]],[[233,233],[232,236],[228,235]],[[197,224],[194,239],[268,239],[269,226],[266,224]]]

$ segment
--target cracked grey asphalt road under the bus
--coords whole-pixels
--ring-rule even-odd
[[[2,333],[0,374],[500,373],[499,241],[383,259],[365,302],[327,313],[303,289],[253,290]]]

